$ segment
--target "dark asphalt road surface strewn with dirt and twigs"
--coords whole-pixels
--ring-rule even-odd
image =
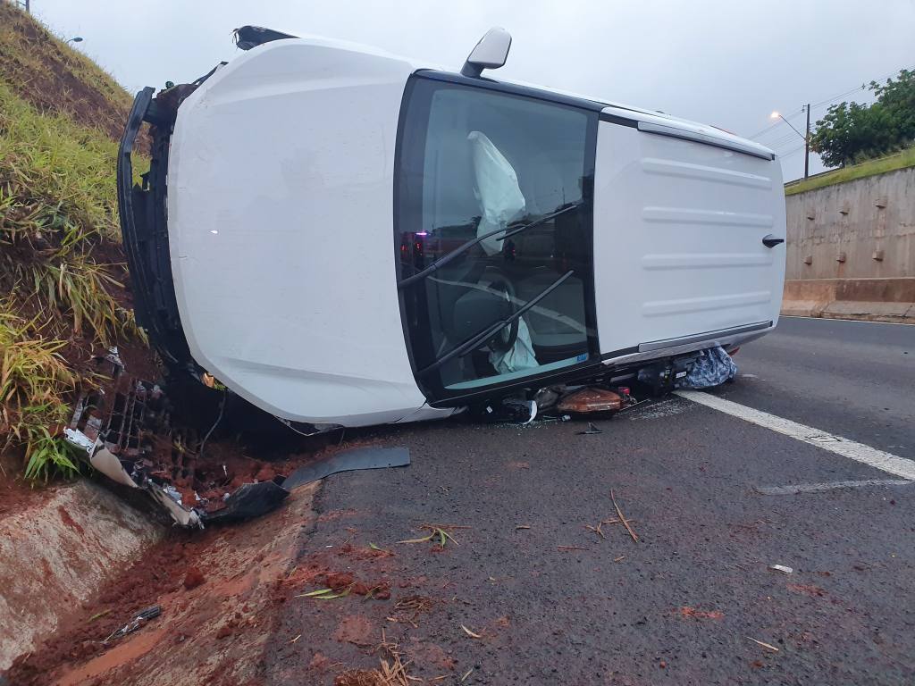
[[[915,327],[784,319],[716,394],[911,458],[913,356]],[[679,397],[599,425],[363,434],[413,464],[329,477],[298,569],[392,597],[291,598],[268,682],[370,683],[383,630],[427,683],[915,683],[915,486],[763,495],[899,477]],[[611,490],[639,541],[587,529]],[[424,524],[466,528],[398,542]]]

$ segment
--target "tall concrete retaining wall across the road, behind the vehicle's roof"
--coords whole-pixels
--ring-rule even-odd
[[[915,167],[785,205],[782,314],[915,322]]]

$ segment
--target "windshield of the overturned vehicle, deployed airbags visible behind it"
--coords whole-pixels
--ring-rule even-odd
[[[405,333],[430,399],[596,354],[597,114],[414,77],[395,236]]]

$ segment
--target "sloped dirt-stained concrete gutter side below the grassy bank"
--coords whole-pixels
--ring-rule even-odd
[[[0,670],[52,634],[164,529],[85,479],[0,520]]]

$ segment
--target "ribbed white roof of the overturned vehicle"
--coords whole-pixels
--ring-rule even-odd
[[[594,252],[605,359],[773,327],[784,238],[780,165],[767,148],[701,124],[601,113]]]

